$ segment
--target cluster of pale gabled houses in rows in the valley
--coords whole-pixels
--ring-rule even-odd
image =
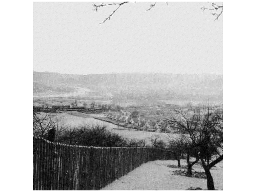
[[[171,130],[171,124],[164,120],[146,120],[139,112],[120,112],[120,114],[109,113],[107,118],[110,120],[132,124],[138,130],[148,130],[156,132],[168,132]]]

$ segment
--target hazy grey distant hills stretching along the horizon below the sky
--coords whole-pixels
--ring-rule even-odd
[[[122,100],[195,100],[222,102],[222,75],[215,74],[59,74],[34,73],[34,94],[86,88]]]

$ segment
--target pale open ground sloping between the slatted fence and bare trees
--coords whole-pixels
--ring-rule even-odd
[[[181,163],[186,165],[185,160]],[[101,190],[186,190],[192,186],[207,189],[206,179],[173,175],[172,172],[179,168],[167,167],[170,164],[177,165],[177,161],[148,162]],[[203,172],[200,165],[194,165],[193,168],[195,171]],[[222,162],[212,168],[211,173],[215,188],[222,189]]]

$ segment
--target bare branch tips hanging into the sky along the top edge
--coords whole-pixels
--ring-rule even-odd
[[[102,8],[102,7],[106,7],[106,6],[117,6],[116,9],[114,9],[112,11],[112,13],[109,14],[108,17],[106,17],[102,22],[100,22],[100,24],[102,23],[105,23],[107,20],[110,20],[110,18],[114,15],[114,13],[121,7],[121,6],[124,6],[125,4],[127,3],[130,3],[128,1],[124,1],[124,2],[120,2],[120,3],[109,3],[109,4],[105,4],[105,3],[102,3],[102,4],[98,4],[96,5],[95,3],[92,3],[92,8],[95,12],[98,12],[98,8]],[[153,4],[150,3],[150,7],[148,9],[146,9],[146,11],[149,11],[151,10],[154,6],[156,6],[156,3],[157,2],[154,2]],[[166,2],[166,5],[168,6],[168,2]],[[211,14],[216,16],[216,19],[215,20],[218,20],[218,18],[220,17],[220,15],[222,14],[223,12],[223,6],[222,5],[218,5],[216,4],[215,2],[212,3],[212,7],[211,8],[207,8],[206,6],[203,6],[201,8],[203,11],[208,9],[208,10],[212,10]],[[219,12],[220,10],[220,12]]]

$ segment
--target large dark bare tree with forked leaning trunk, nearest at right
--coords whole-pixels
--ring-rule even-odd
[[[197,113],[191,110],[176,110],[176,113],[180,118],[174,118],[175,128],[184,134],[187,143],[188,175],[192,174],[189,167],[200,159],[207,178],[207,188],[215,190],[210,169],[223,160],[222,112],[207,106]],[[195,156],[196,161],[190,163],[190,155]],[[216,156],[215,160],[212,160],[213,156]]]

